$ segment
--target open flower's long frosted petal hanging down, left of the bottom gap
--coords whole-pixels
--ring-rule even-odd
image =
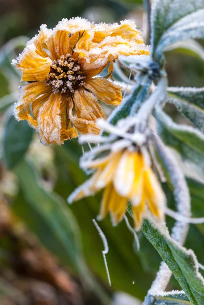
[[[61,102],[61,94],[52,93],[39,110],[38,128],[44,145],[51,143],[61,145]]]

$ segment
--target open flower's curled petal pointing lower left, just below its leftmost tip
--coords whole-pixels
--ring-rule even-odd
[[[19,100],[15,104],[15,117],[19,120],[27,119],[27,113],[31,112],[29,105],[36,100],[40,102],[50,94],[51,88],[46,86],[44,81],[24,85],[21,87]]]

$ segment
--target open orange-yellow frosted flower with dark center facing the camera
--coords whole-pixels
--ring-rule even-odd
[[[52,30],[42,25],[13,64],[22,81],[15,104],[18,120],[27,120],[45,145],[82,134],[100,132],[97,118],[105,118],[98,101],[119,105],[121,89],[96,77],[119,54],[149,54],[136,26],[92,24],[79,17],[63,19]]]

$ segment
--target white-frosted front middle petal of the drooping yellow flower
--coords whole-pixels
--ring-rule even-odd
[[[114,174],[114,187],[121,196],[128,197],[135,178],[135,152],[128,149],[123,153]]]

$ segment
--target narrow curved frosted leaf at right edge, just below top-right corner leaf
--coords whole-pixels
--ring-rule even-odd
[[[202,45],[193,39],[176,42],[165,48],[164,51],[183,53],[204,60],[204,49]]]

